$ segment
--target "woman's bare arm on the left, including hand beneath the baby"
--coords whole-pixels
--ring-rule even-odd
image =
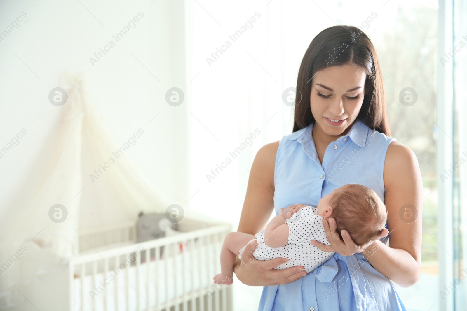
[[[237,231],[255,235],[266,227],[274,209],[274,166],[279,142],[263,146],[256,154],[248,178],[247,194],[241,211]],[[274,267],[288,259],[256,260],[252,253],[257,242],[248,244],[242,253],[242,263],[237,258],[233,271],[247,285],[276,285],[290,283],[306,275],[303,266],[275,270]]]

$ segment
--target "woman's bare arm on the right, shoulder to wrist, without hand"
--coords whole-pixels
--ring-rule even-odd
[[[401,143],[389,145],[384,187],[389,246],[376,241],[363,255],[376,270],[407,287],[417,283],[420,275],[423,184],[415,154]]]

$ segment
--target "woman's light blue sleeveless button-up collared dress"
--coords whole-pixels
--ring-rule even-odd
[[[384,159],[396,139],[357,120],[347,135],[327,146],[321,165],[312,130],[313,123],[279,143],[274,168],[276,214],[281,207],[295,203],[318,206],[323,196],[350,183],[372,188],[384,202]],[[406,311],[393,284],[361,253],[335,253],[292,283],[264,286],[258,311],[272,310]]]

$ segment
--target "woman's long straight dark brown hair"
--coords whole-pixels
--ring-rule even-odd
[[[357,119],[373,130],[391,136],[386,117],[384,83],[373,43],[359,28],[339,25],[326,28],[311,41],[303,56],[297,78],[297,97],[293,131],[298,131],[312,122],[310,108],[311,79],[321,69],[354,63],[366,71],[365,88]]]

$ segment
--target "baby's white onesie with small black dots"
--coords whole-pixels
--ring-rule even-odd
[[[270,248],[264,243],[263,229],[255,234],[258,245],[253,252],[253,256],[258,260],[269,260],[277,257],[288,258],[288,262],[274,268],[278,270],[293,266],[304,266],[306,272],[315,270],[320,264],[334,255],[334,252],[325,252],[310,243],[311,240],[316,240],[331,245],[327,240],[321,222],[322,219],[323,217],[318,215],[317,207],[307,206],[299,209],[290,219],[286,220],[289,225],[288,244],[282,247]],[[241,253],[245,248],[246,245],[240,249],[239,258],[241,258]]]

